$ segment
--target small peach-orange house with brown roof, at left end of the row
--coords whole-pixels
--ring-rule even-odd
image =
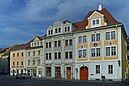
[[[27,44],[15,45],[10,50],[10,75],[27,73],[26,71],[26,47]]]

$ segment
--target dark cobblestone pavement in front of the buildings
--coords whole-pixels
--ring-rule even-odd
[[[126,81],[79,81],[55,79],[15,79],[10,76],[0,75],[0,86],[129,86]]]

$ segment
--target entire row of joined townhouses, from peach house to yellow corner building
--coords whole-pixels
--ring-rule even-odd
[[[127,35],[102,5],[79,22],[55,21],[43,37],[10,50],[10,74],[80,80],[129,77]]]

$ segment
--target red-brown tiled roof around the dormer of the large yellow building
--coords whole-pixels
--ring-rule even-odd
[[[73,26],[76,28],[74,31],[80,31],[80,30],[83,30],[85,29],[85,27],[88,25],[88,18],[95,12],[99,12],[101,14],[104,15],[104,19],[107,23],[107,25],[115,25],[115,24],[118,24],[120,22],[118,22],[105,8],[103,8],[102,10],[98,11],[98,10],[93,10],[93,11],[90,11],[87,16],[82,20],[82,21],[79,21],[79,22],[75,22],[73,23]]]

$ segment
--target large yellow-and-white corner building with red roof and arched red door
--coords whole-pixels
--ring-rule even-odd
[[[101,5],[74,24],[75,75],[80,80],[122,80],[129,77],[126,32]]]

